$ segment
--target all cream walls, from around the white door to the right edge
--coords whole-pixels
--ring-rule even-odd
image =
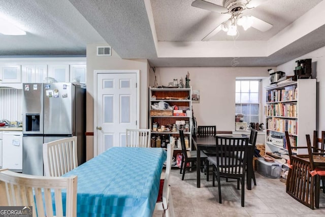
[[[140,127],[147,127],[148,123],[148,86],[154,84],[154,74],[150,70],[146,59],[121,59],[114,50],[112,56],[96,56],[96,46],[87,46],[87,132],[93,132],[93,71],[106,69],[140,69],[141,93],[140,93]],[[317,72],[318,83],[318,128],[325,130],[325,47],[310,52],[295,60],[275,67],[161,67],[156,68],[156,77],[159,85],[168,85],[174,78],[178,81],[185,75],[190,74],[190,86],[192,89],[200,90],[200,103],[193,104],[194,116],[197,117],[199,125],[217,125],[218,131],[234,131],[235,119],[235,80],[236,77],[267,77],[262,83],[262,93],[264,87],[269,83],[268,69],[283,71],[286,75],[293,75],[296,67],[295,61],[298,59],[312,58],[313,67]],[[150,81],[150,82],[149,82]],[[265,96],[262,95],[262,102]],[[264,106],[262,105],[262,110]],[[263,118],[263,111],[262,119]],[[307,117],[306,117],[307,118]],[[92,157],[93,137],[87,137],[87,159]]]

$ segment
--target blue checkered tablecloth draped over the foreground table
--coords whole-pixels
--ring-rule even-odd
[[[64,176],[78,176],[77,216],[152,216],[166,151],[112,147]]]

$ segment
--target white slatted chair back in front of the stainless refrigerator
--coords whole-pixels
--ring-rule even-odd
[[[43,144],[43,162],[46,176],[61,176],[78,166],[77,137]]]

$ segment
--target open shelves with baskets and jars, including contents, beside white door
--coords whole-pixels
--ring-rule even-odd
[[[191,149],[191,92],[191,88],[149,88],[149,128],[152,147],[164,148],[170,137],[173,137],[174,150],[181,150],[178,130],[183,128],[185,143],[187,148]],[[161,109],[161,105],[167,109],[165,107]]]

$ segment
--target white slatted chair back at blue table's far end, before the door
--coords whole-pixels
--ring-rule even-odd
[[[127,147],[150,147],[150,129],[126,129]]]

